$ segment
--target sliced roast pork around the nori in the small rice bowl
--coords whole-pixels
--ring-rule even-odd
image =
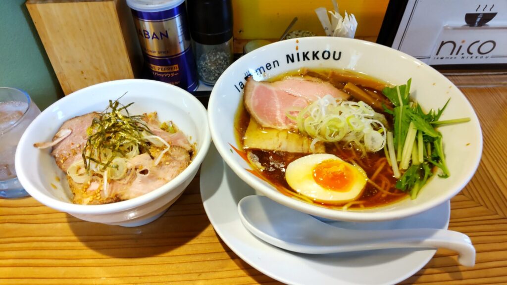
[[[123,165],[118,166],[113,162],[106,168],[111,171],[99,170],[100,165],[89,161],[92,166],[95,165],[91,168],[95,168],[96,172],[86,174],[90,173],[90,170],[85,170],[83,160],[83,149],[89,138],[87,131],[93,120],[99,119],[100,115],[101,113],[92,112],[71,118],[62,124],[52,143],[35,144],[39,148],[53,146],[51,154],[58,167],[67,173],[74,203],[105,204],[141,196],[168,183],[190,164],[194,146],[185,133],[175,126],[169,130],[167,125],[159,122],[156,113],[151,113],[141,116],[141,125],[149,130],[149,133],[143,132],[144,137],[150,141],[147,150],[130,158],[122,157],[122,160],[125,159]],[[65,137],[59,137],[59,133]],[[112,179],[119,167],[126,167],[125,173]],[[70,175],[69,172],[74,174]]]

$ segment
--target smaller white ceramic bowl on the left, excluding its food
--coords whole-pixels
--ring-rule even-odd
[[[66,120],[92,111],[101,112],[108,100],[127,104],[130,114],[157,111],[161,122],[172,120],[197,153],[190,165],[164,186],[142,196],[104,205],[77,205],[63,171],[50,155],[51,149],[39,150],[34,142],[51,141]],[[152,222],[183,193],[194,178],[209,149],[211,139],[204,106],[192,94],[173,85],[152,80],[118,80],[78,90],[49,106],[28,126],[19,141],[15,165],[25,190],[41,203],[79,219],[121,226],[139,226]],[[58,177],[58,179],[57,179]],[[59,181],[58,181],[59,180]],[[51,186],[53,184],[55,187]]]

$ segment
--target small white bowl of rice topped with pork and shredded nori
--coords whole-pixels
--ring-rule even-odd
[[[107,116],[116,111],[108,107],[115,104],[116,111],[122,106],[128,107],[130,116],[122,110],[118,112],[119,121],[127,122],[125,118],[137,121],[130,122],[129,127],[139,127],[136,132],[139,136],[133,139],[141,138],[143,144],[139,147],[129,144],[126,149],[113,153],[101,149],[98,155],[90,155],[90,150],[97,154],[98,145],[93,145],[95,140],[87,141],[86,137],[98,133],[97,129],[102,128],[104,122],[110,122],[104,120],[112,120]],[[93,130],[81,127],[91,125],[93,118],[96,119]],[[170,128],[164,122],[169,123]],[[34,144],[40,146],[40,142],[55,140],[68,129],[75,132],[66,138],[68,144],[64,139],[49,148],[34,147]],[[79,131],[84,134],[76,133]],[[83,135],[84,143],[79,140]],[[178,144],[171,136],[184,142]],[[111,136],[104,137],[104,141],[114,142]],[[65,146],[60,151],[64,144],[68,148]],[[85,145],[88,149],[82,153]],[[86,221],[139,226],[160,217],[183,193],[197,173],[209,145],[206,110],[192,94],[163,82],[119,80],[78,90],[49,106],[21,137],[15,164],[25,190],[49,207]],[[80,165],[82,156],[86,158],[87,171]],[[180,158],[185,161],[180,162]],[[164,171],[172,174],[164,177]],[[115,185],[121,189],[116,194],[113,193]]]

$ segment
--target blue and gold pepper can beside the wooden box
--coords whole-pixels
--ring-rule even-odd
[[[197,89],[185,0],[127,0],[127,5],[154,79]]]

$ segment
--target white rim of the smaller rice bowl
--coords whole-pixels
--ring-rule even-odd
[[[108,214],[108,213],[114,213],[114,212],[121,212],[124,210],[138,207],[143,204],[147,204],[147,203],[154,201],[154,200],[160,198],[161,196],[167,194],[168,192],[175,189],[180,184],[183,184],[189,178],[189,176],[192,175],[192,173],[194,171],[196,171],[196,169],[200,166],[200,164],[202,163],[202,161],[206,157],[206,154],[209,150],[209,146],[211,144],[211,134],[210,134],[210,130],[209,130],[206,108],[204,108],[204,105],[194,95],[192,95],[191,93],[189,93],[188,91],[186,91],[182,88],[176,87],[176,86],[171,85],[169,83],[155,81],[155,80],[148,80],[148,79],[121,79],[121,80],[102,82],[102,83],[98,83],[95,85],[85,87],[83,89],[77,90],[73,93],[66,95],[65,97],[57,100],[56,102],[54,102],[53,104],[48,106],[48,108],[46,108],[42,113],[49,113],[49,112],[51,112],[51,110],[53,108],[55,108],[59,104],[65,103],[67,101],[75,100],[76,96],[84,96],[81,94],[87,94],[89,91],[92,91],[95,89],[100,89],[103,86],[117,85],[117,84],[160,85],[160,86],[168,87],[169,89],[173,89],[174,92],[179,93],[179,96],[183,96],[192,102],[192,104],[193,104],[192,111],[198,112],[200,114],[200,117],[202,117],[202,122],[195,122],[195,123],[196,124],[206,124],[207,127],[204,128],[204,133],[202,133],[201,145],[199,146],[198,152],[194,156],[194,158],[192,159],[189,166],[187,166],[187,168],[185,168],[185,170],[183,170],[181,173],[179,173],[171,181],[169,181],[166,184],[164,184],[163,186],[161,186],[149,193],[143,194],[141,196],[138,196],[138,197],[135,197],[135,198],[132,198],[129,200],[125,200],[125,201],[110,203],[110,204],[81,205],[81,204],[63,202],[63,201],[60,201],[58,199],[55,199],[51,196],[48,196],[48,195],[40,192],[37,189],[37,187],[35,185],[33,185],[31,180],[28,178],[29,177],[28,173],[25,173],[25,170],[22,169],[21,166],[19,167],[19,171],[18,171],[17,165],[22,165],[22,155],[21,154],[18,155],[18,151],[16,151],[15,164],[16,164],[16,172],[17,172],[18,179],[19,179],[21,185],[23,186],[23,188],[26,190],[26,192],[28,192],[28,194],[30,194],[30,196],[32,196],[34,199],[40,201],[41,203],[43,203],[51,208],[54,208],[54,209],[57,209],[57,210],[60,210],[63,212],[75,213],[75,214],[80,214],[80,215],[102,215],[102,214]],[[41,118],[42,117],[37,117],[33,120],[33,122],[39,122],[40,120],[42,120]],[[199,119],[201,119],[201,118],[199,118]],[[29,128],[30,128],[30,126],[28,126],[27,129],[29,129]],[[19,145],[26,145],[27,144],[27,142],[25,142],[26,137],[27,137],[27,134],[25,132],[21,136]],[[21,149],[21,148],[18,148],[18,150],[19,149]]]

